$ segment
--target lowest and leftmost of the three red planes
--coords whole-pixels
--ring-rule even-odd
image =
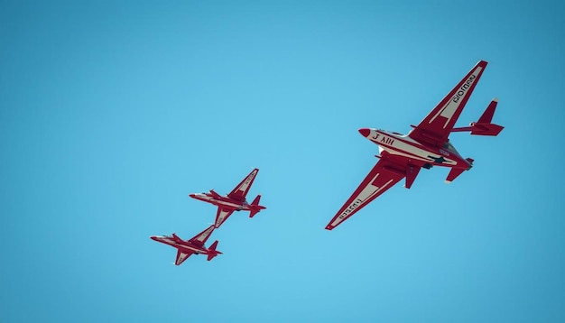
[[[200,232],[198,235],[194,236],[190,240],[182,240],[178,235],[153,235],[151,238],[157,242],[160,242],[165,245],[171,245],[178,249],[177,251],[177,259],[174,261],[174,264],[180,265],[183,263],[187,258],[190,257],[192,254],[207,254],[208,261],[212,260],[215,256],[220,253],[216,250],[218,246],[218,240],[216,240],[212,245],[208,248],[204,246],[208,237],[214,231],[214,226],[209,226],[206,230]]]

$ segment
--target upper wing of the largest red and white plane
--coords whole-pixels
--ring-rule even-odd
[[[473,89],[477,86],[486,64],[485,60],[479,61],[408,136],[416,141],[435,145],[446,143],[449,132],[457,122]]]

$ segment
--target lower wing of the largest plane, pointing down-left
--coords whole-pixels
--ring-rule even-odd
[[[390,189],[398,181],[404,178],[406,173],[406,165],[397,162],[391,162],[386,156],[376,163],[375,167],[366,176],[361,185],[353,192],[353,195],[338,210],[335,217],[329,221],[327,230],[332,230],[348,217],[353,216],[358,210],[364,208],[375,198],[383,194],[386,189]]]

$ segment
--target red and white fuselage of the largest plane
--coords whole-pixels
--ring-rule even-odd
[[[472,164],[461,157],[450,144],[436,147],[426,143],[419,143],[406,134],[398,134],[378,129],[359,129],[359,133],[368,140],[376,143],[379,152],[388,152],[391,155],[408,160],[415,166],[426,167],[442,166],[450,168],[470,169]],[[450,147],[449,147],[450,146]]]

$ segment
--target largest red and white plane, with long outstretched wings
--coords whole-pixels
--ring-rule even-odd
[[[326,229],[331,230],[348,217],[353,216],[369,202],[379,197],[398,181],[406,179],[404,187],[410,189],[421,168],[432,166],[449,167],[446,182],[455,180],[463,171],[473,166],[473,160],[463,158],[449,143],[449,134],[470,132],[477,135],[497,135],[504,127],[491,123],[495,114],[496,98],[486,107],[476,123],[470,126],[454,128],[458,116],[471,96],[483,71],[486,61],[481,60],[471,69],[465,78],[444,97],[438,106],[427,115],[420,125],[412,125],[409,134],[378,130],[359,129],[359,133],[378,145],[379,161],[355,190],[353,195],[329,221]]]

